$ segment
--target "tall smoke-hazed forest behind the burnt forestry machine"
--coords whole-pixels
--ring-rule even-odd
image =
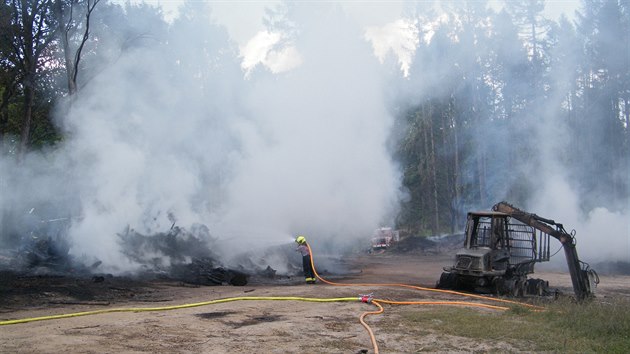
[[[435,234],[460,225],[462,210],[524,205],[549,170],[571,181],[583,210],[627,208],[630,2],[583,1],[575,21],[558,22],[542,1],[501,13],[474,5],[452,9],[458,20],[411,68],[412,86],[426,63],[440,77],[397,117],[411,194],[399,222]]]

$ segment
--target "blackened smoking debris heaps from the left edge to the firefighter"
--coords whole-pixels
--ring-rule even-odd
[[[4,215],[7,216],[7,215]],[[15,215],[13,215],[15,216]],[[0,229],[0,271],[24,276],[103,277],[111,265],[97,259],[77,259],[71,250],[71,218],[5,217]],[[250,279],[278,282],[295,272],[294,260],[286,255],[273,256],[269,250],[226,260],[220,257],[221,241],[212,237],[205,225],[190,228],[173,225],[166,232],[143,234],[127,227],[115,235],[120,250],[133,272],[118,271],[133,278],[169,279],[196,285],[247,284]],[[276,252],[271,252],[276,253]],[[272,268],[281,259],[280,272]],[[273,262],[267,262],[273,258]],[[229,265],[227,265],[229,264]],[[285,266],[286,264],[286,266]],[[281,274],[282,275],[281,275]]]

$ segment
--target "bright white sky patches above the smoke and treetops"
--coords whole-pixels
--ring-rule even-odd
[[[177,9],[183,0],[144,0],[146,3],[161,6],[167,18],[177,15]],[[226,27],[228,33],[240,47],[243,56],[243,68],[247,71],[258,63],[262,63],[272,72],[281,72],[300,64],[297,54],[288,49],[283,53],[274,52],[268,55],[274,44],[280,40],[277,33],[268,33],[263,25],[266,8],[272,8],[280,1],[207,1],[211,4],[212,18]],[[421,1],[422,2],[422,1]],[[407,74],[413,53],[409,48],[417,42],[417,31],[401,18],[406,5],[410,1],[341,1],[344,10],[352,20],[365,30],[377,57],[382,59],[389,50],[399,58],[401,70]],[[503,2],[489,1],[489,6],[500,10]],[[547,0],[546,16],[557,20],[561,15],[573,18],[579,8],[579,0]]]

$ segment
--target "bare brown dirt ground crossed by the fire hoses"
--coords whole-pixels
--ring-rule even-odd
[[[351,276],[340,283],[404,283],[434,287],[446,255],[357,255],[347,260]],[[571,293],[568,274],[536,272],[551,287]],[[630,276],[601,275],[598,298],[630,297]],[[6,325],[0,327],[0,348],[10,353],[372,353],[367,330],[359,317],[373,305],[356,302],[310,302],[286,299],[345,298],[372,293],[389,300],[462,300],[461,297],[387,286],[283,285],[252,282],[246,286],[192,287],[173,281],[138,282],[116,278],[35,279],[48,284],[29,292],[29,279],[3,278],[24,287],[20,296],[2,296],[0,320],[50,316],[112,308],[145,308],[195,304],[216,299],[240,300],[154,312],[117,312]],[[19,282],[16,282],[18,281]],[[56,283],[56,281],[58,283]],[[62,288],[64,291],[59,291]],[[5,289],[7,289],[5,287]],[[2,294],[0,294],[2,295]],[[7,294],[5,294],[7,295]],[[276,299],[283,298],[283,299]],[[420,305],[412,305],[417,310]],[[419,351],[513,351],[501,341],[471,341],[440,333],[408,336],[397,319],[408,306],[385,306],[366,318],[383,353]],[[494,311],[480,309],[479,311]],[[414,333],[418,333],[417,331]],[[518,350],[516,350],[518,351]]]

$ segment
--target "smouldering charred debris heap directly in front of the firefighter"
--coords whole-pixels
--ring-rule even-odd
[[[301,274],[301,258],[291,245],[268,246],[234,254],[205,225],[172,226],[150,235],[127,228],[120,233],[123,254],[141,265],[144,278],[179,280],[197,285],[290,283]]]

